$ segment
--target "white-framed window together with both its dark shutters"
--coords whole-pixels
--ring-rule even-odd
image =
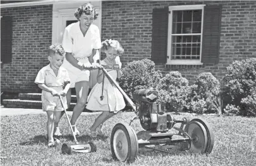
[[[221,11],[221,5],[154,8],[151,60],[169,65],[217,64]]]

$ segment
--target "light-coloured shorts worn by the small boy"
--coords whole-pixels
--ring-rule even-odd
[[[63,87],[51,87],[57,92],[62,91]],[[62,96],[61,96],[62,97]],[[64,108],[68,108],[66,96],[62,97]],[[50,92],[42,91],[42,109],[43,111],[64,111],[59,96],[52,96]]]

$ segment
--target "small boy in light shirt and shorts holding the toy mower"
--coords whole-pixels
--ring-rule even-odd
[[[64,48],[59,45],[51,45],[48,50],[49,65],[43,67],[37,77],[35,84],[42,89],[42,109],[47,113],[47,136],[48,147],[55,147],[53,132],[54,124],[59,123],[63,106],[59,95],[63,98],[65,109],[68,108],[66,93],[70,89],[70,77],[68,71],[61,67],[64,60]]]

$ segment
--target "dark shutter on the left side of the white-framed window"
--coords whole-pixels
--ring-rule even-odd
[[[155,63],[167,62],[169,8],[155,8],[152,12],[152,55]]]

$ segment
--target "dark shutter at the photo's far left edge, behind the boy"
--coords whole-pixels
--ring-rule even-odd
[[[3,16],[1,18],[1,62],[8,64],[11,62],[13,37],[13,18]]]

